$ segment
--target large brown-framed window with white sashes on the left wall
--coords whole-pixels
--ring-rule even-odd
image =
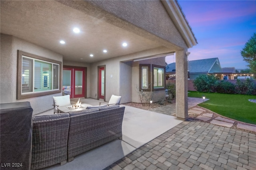
[[[55,60],[23,51],[18,51],[18,54],[17,99],[61,92],[60,74],[62,65],[60,61],[55,63],[53,62]],[[38,94],[34,95],[36,93]]]

